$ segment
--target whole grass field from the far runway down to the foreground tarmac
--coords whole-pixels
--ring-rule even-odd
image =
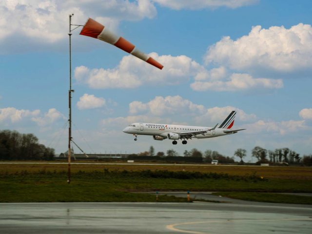
[[[266,193],[312,193],[312,168],[306,167],[81,164],[72,165],[71,178],[72,182],[67,184],[64,164],[0,164],[0,202],[156,200],[155,195],[130,193],[140,191],[235,191],[243,192],[238,193],[240,199],[259,201],[264,196],[273,197]],[[248,196],[251,192],[265,194]],[[234,195],[231,194],[227,196]],[[297,200],[297,203],[312,204],[300,201],[306,197],[293,198],[274,202]],[[158,201],[183,202],[186,198],[159,196]]]

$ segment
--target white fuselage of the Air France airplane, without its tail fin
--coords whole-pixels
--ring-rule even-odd
[[[211,127],[200,127],[200,126],[186,126],[186,125],[175,125],[175,124],[156,124],[156,123],[133,123],[126,127],[123,132],[134,134],[134,135],[148,135],[148,136],[159,136],[168,138],[169,133],[187,133],[197,131],[207,131],[203,134],[192,136],[192,138],[210,138],[220,137],[229,135],[232,133],[224,133],[223,128],[216,128],[214,130]],[[209,131],[210,130],[210,131]],[[182,137],[183,138],[183,137]]]

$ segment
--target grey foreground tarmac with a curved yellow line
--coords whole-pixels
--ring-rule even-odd
[[[311,229],[311,205],[0,203],[3,234],[310,234]]]

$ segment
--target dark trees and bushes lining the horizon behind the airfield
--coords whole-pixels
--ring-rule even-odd
[[[244,163],[243,159],[247,156],[245,149],[237,149],[234,156],[224,156],[217,151],[206,150],[201,152],[197,149],[190,151],[185,150],[183,156],[180,156],[175,150],[170,149],[164,152],[155,153],[153,146],[149,151],[139,154],[132,154],[129,158],[150,160],[154,156],[155,160],[171,161],[189,161],[189,162],[207,162],[211,163],[216,159],[219,163],[235,163],[234,156]],[[312,154],[300,156],[294,150],[289,148],[279,148],[267,150],[255,146],[251,156],[257,159],[257,163],[287,163],[287,164],[305,164],[312,165]],[[17,131],[1,130],[0,131],[0,160],[53,160],[55,151],[52,148],[39,144],[38,138],[33,134],[20,134]]]

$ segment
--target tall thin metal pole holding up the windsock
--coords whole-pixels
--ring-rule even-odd
[[[69,90],[68,90],[68,108],[69,108],[69,128],[68,128],[68,179],[67,183],[70,183],[70,161],[71,161],[71,147],[70,142],[72,139],[72,43],[71,43],[71,20],[74,14],[69,15]]]

